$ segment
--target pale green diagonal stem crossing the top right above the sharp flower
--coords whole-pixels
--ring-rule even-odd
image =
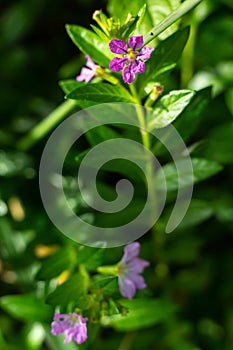
[[[174,22],[180,19],[182,16],[186,15],[195,6],[197,6],[202,0],[186,0],[183,2],[177,10],[172,12],[168,17],[161,21],[156,27],[154,27],[145,37],[144,45],[147,45],[150,41],[155,39],[160,33],[165,29],[170,27]]]

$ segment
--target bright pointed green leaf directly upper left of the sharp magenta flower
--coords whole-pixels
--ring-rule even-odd
[[[101,65],[108,67],[113,55],[108,47],[108,44],[101,40],[95,33],[77,25],[66,25],[67,33],[78,46],[80,51],[91,59]]]

